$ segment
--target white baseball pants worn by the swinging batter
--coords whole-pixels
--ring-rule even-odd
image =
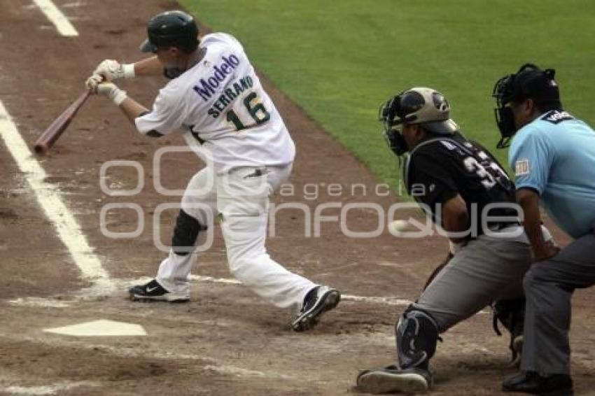
[[[275,306],[299,311],[305,295],[316,284],[281,267],[265,249],[269,197],[290,173],[291,164],[241,167],[225,174],[207,167],[190,179],[181,206],[201,225],[221,220],[230,272],[235,278]],[[213,232],[212,227],[207,232]],[[196,255],[178,255],[170,249],[169,257],[161,262],[157,281],[169,292],[188,295],[188,276]]]

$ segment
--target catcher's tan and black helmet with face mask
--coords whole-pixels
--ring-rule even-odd
[[[379,120],[384,122],[384,137],[388,147],[400,157],[410,149],[402,136],[404,124],[419,124],[430,133],[450,136],[458,126],[449,118],[449,113],[450,105],[440,92],[414,87],[382,104]]]

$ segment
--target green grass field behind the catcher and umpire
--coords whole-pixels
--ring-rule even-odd
[[[393,186],[397,162],[381,139],[377,111],[407,87],[440,90],[463,132],[502,162],[491,90],[524,62],[557,69],[566,109],[595,124],[589,0],[181,3],[200,22],[239,38],[258,69]]]

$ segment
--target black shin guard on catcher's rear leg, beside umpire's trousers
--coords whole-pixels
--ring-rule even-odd
[[[521,363],[521,351],[523,350],[523,332],[525,321],[525,299],[501,299],[494,302],[493,308],[493,330],[499,336],[502,335],[498,329],[498,322],[510,332],[510,352],[512,359],[511,366],[518,366]]]

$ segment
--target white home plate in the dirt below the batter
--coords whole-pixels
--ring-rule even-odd
[[[118,336],[146,336],[141,325],[134,323],[115,322],[114,320],[93,320],[78,325],[44,329],[43,332],[64,334],[74,337],[118,337]]]

